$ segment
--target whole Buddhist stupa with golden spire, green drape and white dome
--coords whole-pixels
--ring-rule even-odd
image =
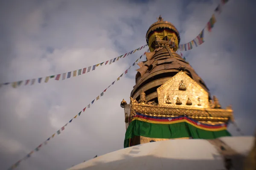
[[[125,149],[70,170],[253,170],[256,144],[245,165],[243,153],[253,137],[231,137],[227,125],[234,120],[232,108],[221,108],[204,80],[177,54],[180,35],[175,26],[160,16],[149,27],[146,41],[150,52],[138,63],[130,104],[125,99],[120,104],[125,111]]]

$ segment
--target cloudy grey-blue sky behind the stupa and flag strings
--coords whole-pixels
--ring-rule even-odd
[[[217,5],[213,0],[2,0],[0,83],[73,71],[125,54],[146,44],[146,31],[159,14],[177,27],[181,43],[189,42]],[[249,0],[230,0],[205,43],[183,52],[221,105],[233,105],[237,125],[246,135],[256,129],[254,6]],[[1,169],[59,130],[145,50],[64,81],[2,86]],[[122,149],[125,122],[120,102],[129,101],[137,68],[17,169],[62,170]],[[233,125],[229,130],[239,135]]]

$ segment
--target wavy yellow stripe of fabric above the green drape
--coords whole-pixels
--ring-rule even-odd
[[[158,121],[154,121],[154,120],[148,120],[148,119],[143,119],[143,118],[140,118],[140,117],[134,117],[132,121],[134,120],[140,120],[140,121],[143,121],[143,122],[148,122],[148,123],[155,123],[155,124],[175,124],[175,123],[180,123],[180,122],[186,122],[192,126],[195,126],[197,127],[198,129],[203,129],[203,130],[207,130],[207,131],[220,131],[220,130],[226,130],[227,127],[220,127],[220,128],[215,128],[215,129],[211,129],[211,128],[206,128],[206,127],[201,127],[201,126],[198,126],[198,125],[195,125],[189,121],[187,121],[186,119],[183,119],[183,120],[177,120],[175,122],[158,122]]]

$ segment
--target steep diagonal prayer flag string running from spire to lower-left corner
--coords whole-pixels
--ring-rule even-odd
[[[149,49],[148,49],[147,51],[149,51]],[[129,68],[127,68],[127,69],[125,70],[125,72],[123,72],[115,81],[113,81],[113,82],[111,83],[111,85],[114,85],[114,83],[117,82],[117,81],[119,81],[120,78],[121,78],[123,75],[127,74],[127,73],[128,73],[128,70],[129,70],[132,66],[134,66],[134,65],[138,62],[138,60],[141,59],[145,54],[146,54],[146,52],[145,52],[143,55],[141,55],[140,58],[138,58]],[[111,85],[109,85],[108,88],[110,88]],[[52,139],[54,136],[58,136],[59,134],[61,134],[61,132],[65,129],[65,127],[66,127],[69,123],[71,123],[74,119],[76,119],[78,116],[80,116],[81,113],[84,113],[85,110],[86,110],[86,108],[87,108],[87,109],[90,108],[90,106],[93,105],[93,103],[94,103],[95,101],[99,100],[99,98],[104,95],[104,93],[107,91],[108,88],[106,88],[99,96],[97,96],[96,99],[93,99],[93,101],[90,102],[85,108],[83,108],[82,111],[80,111],[79,113],[77,113],[76,116],[74,116],[72,119],[70,119],[70,121],[67,122],[63,127],[61,127],[61,129],[59,129],[59,130],[57,130],[57,132],[53,133],[52,136],[50,136],[50,137],[49,137],[47,140],[45,140],[43,143],[39,144],[38,147],[36,147],[34,150],[32,150],[30,153],[28,153],[28,154],[27,154],[26,156],[24,156],[22,159],[20,159],[20,160],[17,161],[15,164],[13,164],[12,167],[10,167],[8,170],[13,170],[13,169],[15,169],[17,166],[19,166],[19,164],[20,164],[21,161],[24,161],[24,160],[30,158],[30,156],[31,156],[33,153],[35,153],[36,151],[39,151],[40,148],[41,148],[43,145],[46,145],[46,144],[50,141],[50,139]]]

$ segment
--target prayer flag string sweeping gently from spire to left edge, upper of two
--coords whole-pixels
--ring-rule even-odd
[[[115,57],[113,59],[110,59],[108,61],[105,62],[101,62],[99,64],[93,65],[93,66],[89,66],[87,68],[81,68],[75,71],[69,71],[66,73],[61,73],[61,74],[57,74],[57,75],[52,75],[52,76],[47,76],[47,77],[39,77],[39,78],[35,78],[35,79],[26,79],[26,80],[20,80],[20,81],[16,81],[16,82],[6,82],[6,83],[0,83],[0,87],[2,85],[12,85],[13,88],[17,88],[20,85],[34,85],[36,82],[38,83],[42,83],[45,82],[47,83],[49,81],[49,79],[55,79],[55,80],[64,80],[64,79],[69,79],[70,77],[76,77],[76,76],[80,76],[82,74],[88,73],[90,71],[94,71],[99,65],[102,66],[104,63],[105,65],[111,65],[111,63],[118,61],[121,58],[125,58],[126,56],[129,56],[130,54],[134,54],[136,51],[140,51],[141,49],[145,48],[147,45],[141,46],[140,48],[137,48],[135,50],[132,50],[128,53],[125,53],[119,57]]]

